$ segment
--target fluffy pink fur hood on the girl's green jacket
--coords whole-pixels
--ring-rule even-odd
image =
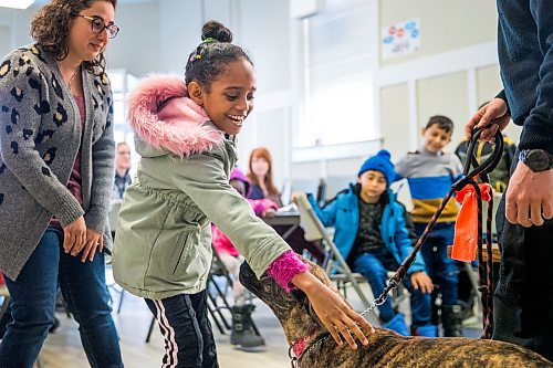
[[[176,75],[152,75],[128,94],[128,120],[137,136],[156,149],[180,157],[210,151],[225,140],[204,108],[187,97]]]

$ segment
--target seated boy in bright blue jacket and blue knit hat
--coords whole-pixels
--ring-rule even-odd
[[[397,270],[413,251],[410,220],[389,190],[396,172],[388,151],[380,150],[368,158],[357,177],[357,183],[340,192],[323,209],[313,196],[307,199],[323,224],[335,228],[334,242],[340,253],[354,272],[367,278],[376,297],[386,286],[387,270]],[[436,336],[436,326],[430,325],[432,282],[420,254],[403,282],[410,293],[411,333]],[[390,296],[379,306],[379,313],[383,327],[409,335],[404,315],[392,307]]]

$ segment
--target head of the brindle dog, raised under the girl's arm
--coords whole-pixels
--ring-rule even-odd
[[[310,264],[310,272],[315,277],[338,293],[323,269],[303,257],[301,259]],[[258,280],[247,262],[242,263],[240,267],[240,282],[274,312],[290,344],[306,335],[313,336],[324,332],[323,324],[302,291],[294,290],[288,294],[267,274],[263,274],[261,280]]]

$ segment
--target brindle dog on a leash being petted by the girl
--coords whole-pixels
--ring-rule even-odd
[[[306,261],[309,262],[309,261]],[[311,263],[311,273],[337,290],[324,271]],[[476,338],[405,337],[376,328],[367,335],[368,345],[357,350],[340,348],[311,308],[301,291],[286,294],[271,277],[258,280],[247,263],[240,269],[240,282],[262,299],[279,318],[290,345],[300,356],[300,368],[362,367],[494,367],[545,368],[553,364],[536,353],[503,341]]]

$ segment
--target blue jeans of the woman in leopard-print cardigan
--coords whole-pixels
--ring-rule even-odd
[[[63,230],[48,228],[17,281],[6,278],[13,322],[0,345],[0,367],[31,368],[54,323],[58,285],[79,323],[94,368],[123,367],[105,285],[104,253],[81,262],[63,251]]]

